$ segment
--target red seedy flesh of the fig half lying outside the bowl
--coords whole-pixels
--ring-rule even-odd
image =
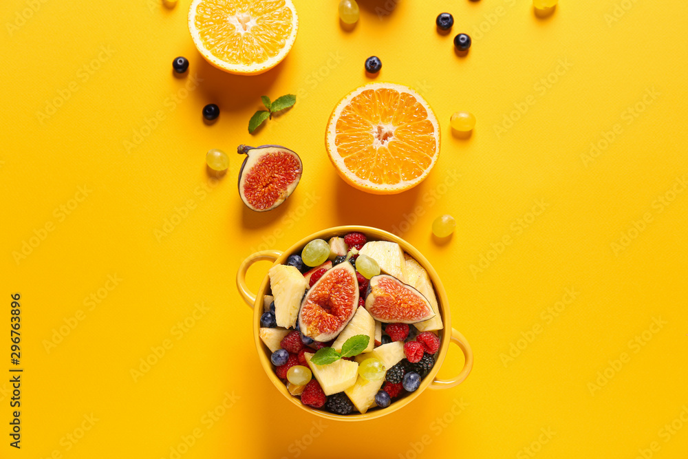
[[[287,198],[287,187],[301,175],[301,162],[290,153],[272,152],[261,156],[246,173],[246,200],[263,210]]]

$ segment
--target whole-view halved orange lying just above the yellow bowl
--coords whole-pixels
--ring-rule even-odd
[[[325,147],[348,184],[368,193],[401,193],[422,182],[435,165],[440,127],[413,89],[368,83],[334,108]]]

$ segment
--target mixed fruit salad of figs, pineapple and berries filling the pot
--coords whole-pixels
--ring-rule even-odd
[[[430,373],[443,328],[437,297],[396,242],[357,232],[314,239],[268,274],[259,337],[303,405],[385,409]]]

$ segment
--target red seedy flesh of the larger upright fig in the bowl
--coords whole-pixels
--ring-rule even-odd
[[[325,273],[325,278],[314,286],[306,295],[305,304],[301,307],[301,323],[308,324],[308,334],[330,334],[335,332],[349,319],[356,297],[355,277],[345,269],[335,269]]]

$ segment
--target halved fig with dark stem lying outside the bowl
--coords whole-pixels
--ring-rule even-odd
[[[239,171],[239,195],[252,211],[275,209],[289,198],[301,180],[301,158],[288,148],[239,145],[237,151],[246,155]]]

